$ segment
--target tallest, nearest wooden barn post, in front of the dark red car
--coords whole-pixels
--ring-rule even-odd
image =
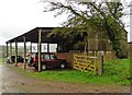
[[[41,72],[41,39],[42,39],[42,29],[38,31],[38,72]]]

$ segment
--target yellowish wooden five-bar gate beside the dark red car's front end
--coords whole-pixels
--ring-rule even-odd
[[[97,74],[98,73],[97,62],[98,62],[97,57],[74,55],[73,68],[84,72],[91,70],[94,71],[95,74]]]

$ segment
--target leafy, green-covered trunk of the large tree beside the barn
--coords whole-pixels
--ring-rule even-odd
[[[121,27],[121,25],[116,21],[113,17],[108,17],[108,25],[111,28],[111,32],[113,34],[112,41],[112,48],[117,51],[116,56],[118,58],[124,58],[124,52],[122,43],[127,41],[125,37],[125,31]]]

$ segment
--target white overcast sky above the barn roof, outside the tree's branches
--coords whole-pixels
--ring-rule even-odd
[[[37,26],[59,26],[66,20],[66,15],[54,17],[53,12],[44,13],[44,4],[38,1],[0,0],[0,45]],[[130,20],[127,17],[124,22],[130,23]]]

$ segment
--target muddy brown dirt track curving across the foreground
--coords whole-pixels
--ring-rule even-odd
[[[0,66],[1,68],[1,66]],[[14,70],[14,66],[2,67],[3,93],[129,93],[129,86],[75,84],[51,82],[29,78]],[[1,70],[1,69],[0,69]],[[26,72],[25,72],[26,73]]]

